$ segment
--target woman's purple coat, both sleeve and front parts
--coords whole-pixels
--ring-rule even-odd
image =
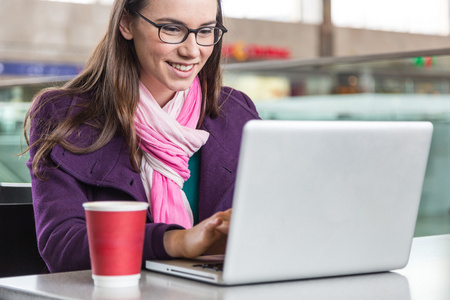
[[[55,96],[49,92],[41,99]],[[56,94],[58,95],[58,94]],[[41,135],[39,120],[64,118],[69,108],[89,101],[82,97],[59,95],[41,109],[32,120],[30,142]],[[202,129],[210,133],[201,148],[199,218],[200,221],[232,205],[242,127],[259,116],[253,102],[243,93],[224,88],[221,92],[221,115],[205,117]],[[74,110],[75,111],[75,110]],[[84,139],[95,135],[89,127],[82,128]],[[101,200],[136,200],[147,202],[140,174],[129,160],[122,136],[115,136],[103,148],[77,155],[57,145],[51,151],[41,181],[32,176],[33,205],[38,248],[51,272],[90,268],[85,213],[82,203]],[[30,151],[31,161],[36,149]],[[148,213],[143,260],[170,258],[163,246],[167,230],[176,225],[153,223]]]

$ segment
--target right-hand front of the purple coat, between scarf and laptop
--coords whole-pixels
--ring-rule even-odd
[[[235,93],[222,93],[221,101],[220,116],[205,117],[201,126],[210,136],[201,148],[200,221],[232,207],[242,128],[249,120],[259,118]]]

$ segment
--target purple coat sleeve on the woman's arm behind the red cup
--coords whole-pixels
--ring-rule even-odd
[[[49,101],[41,109],[34,109],[31,118],[30,145],[39,141],[49,120],[54,123],[65,116],[70,99]],[[42,101],[40,101],[42,103]],[[31,164],[37,145],[30,149]],[[90,269],[86,219],[82,204],[97,199],[96,189],[80,181],[57,165],[48,155],[40,166],[44,180],[31,174],[33,206],[38,248],[50,272]],[[114,194],[114,189],[109,189]],[[130,197],[130,199],[132,199]],[[147,223],[143,261],[170,258],[164,249],[163,237],[167,230],[180,227]]]

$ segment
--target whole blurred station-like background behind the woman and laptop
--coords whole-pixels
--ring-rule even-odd
[[[427,120],[416,236],[450,233],[448,0],[223,0],[224,83],[264,119]],[[29,183],[23,118],[75,76],[111,0],[0,0],[0,183]]]

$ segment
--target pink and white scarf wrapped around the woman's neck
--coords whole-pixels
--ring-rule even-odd
[[[192,211],[182,188],[190,177],[189,158],[208,140],[195,129],[202,94],[196,77],[190,88],[177,92],[163,108],[139,83],[140,101],[134,119],[144,157],[141,178],[156,223],[193,226]]]

